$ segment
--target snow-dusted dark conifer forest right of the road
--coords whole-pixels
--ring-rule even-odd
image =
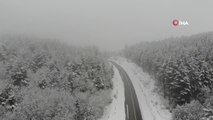
[[[213,33],[142,42],[124,54],[153,75],[173,109],[174,120],[213,115]]]

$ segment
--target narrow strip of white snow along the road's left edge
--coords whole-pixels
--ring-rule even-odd
[[[117,68],[113,67],[114,77],[112,103],[104,110],[104,115],[99,120],[125,120],[124,84]]]

